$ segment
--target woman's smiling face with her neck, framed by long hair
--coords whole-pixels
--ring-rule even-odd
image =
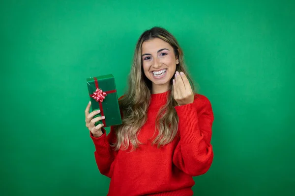
[[[142,62],[144,73],[152,82],[152,94],[168,91],[178,64],[173,47],[159,38],[147,40],[142,45]]]

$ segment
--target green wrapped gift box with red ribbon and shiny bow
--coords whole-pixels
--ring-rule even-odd
[[[92,111],[100,109],[95,115],[105,116],[102,121],[96,122],[95,126],[103,123],[104,127],[122,124],[116,83],[113,74],[90,77],[86,79]]]

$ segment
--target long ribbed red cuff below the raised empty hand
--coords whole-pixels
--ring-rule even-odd
[[[183,144],[196,142],[201,137],[198,112],[194,104],[189,103],[175,107],[179,119],[180,141]]]

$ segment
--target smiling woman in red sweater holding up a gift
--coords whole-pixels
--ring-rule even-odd
[[[192,196],[192,176],[208,171],[213,112],[194,93],[177,40],[153,27],[139,38],[129,89],[119,98],[122,124],[110,133],[104,117],[89,113],[86,126],[99,171],[111,178],[109,196]]]

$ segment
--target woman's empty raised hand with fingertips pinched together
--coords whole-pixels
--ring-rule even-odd
[[[175,79],[173,79],[174,99],[178,105],[185,105],[194,102],[194,93],[190,83],[182,72],[176,72]]]

